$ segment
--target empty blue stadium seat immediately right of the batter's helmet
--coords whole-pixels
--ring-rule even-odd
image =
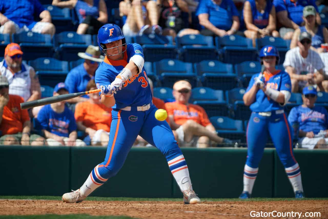
[[[178,51],[173,45],[173,38],[155,34],[133,37],[133,42],[142,45],[145,61],[176,59]]]

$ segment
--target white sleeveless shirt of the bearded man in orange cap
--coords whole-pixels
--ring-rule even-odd
[[[23,97],[24,101],[31,96],[31,77],[30,70],[33,69],[31,66],[22,62],[22,67],[19,72],[12,74],[12,72],[6,67],[4,62],[0,62],[1,75],[6,76],[9,82],[9,94],[15,94]]]

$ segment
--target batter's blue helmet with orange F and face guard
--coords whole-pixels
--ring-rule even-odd
[[[113,49],[115,47],[119,47],[119,46],[114,46],[112,48],[106,48],[106,45],[105,45],[106,43],[110,43],[110,42],[120,40],[120,39],[122,39],[122,45],[119,45],[119,46],[125,46],[126,42],[125,42],[125,38],[122,33],[122,30],[116,24],[105,24],[98,30],[98,46],[100,47],[101,52],[104,54],[106,54],[107,49]],[[124,53],[125,51],[126,51],[126,48],[124,51],[122,50],[121,53]],[[116,56],[121,53],[111,55],[111,56]]]

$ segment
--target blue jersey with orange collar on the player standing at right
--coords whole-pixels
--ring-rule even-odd
[[[249,91],[253,84],[256,81],[256,78],[259,76],[260,73],[254,74],[253,77],[251,78],[249,85],[247,87],[247,91]],[[266,82],[266,87],[271,87],[275,90],[286,90],[291,92],[291,81],[289,74],[286,73],[285,71],[280,71],[277,70],[274,73],[267,73],[264,71],[263,73],[265,77],[265,82]],[[259,89],[256,93],[256,100],[253,104],[251,104],[250,109],[253,112],[268,112],[268,111],[273,111],[273,110],[278,110],[278,109],[283,109],[284,107],[281,106],[279,103],[276,101],[270,99],[263,90]]]

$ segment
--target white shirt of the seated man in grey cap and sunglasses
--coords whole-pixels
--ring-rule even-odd
[[[315,73],[324,68],[319,54],[313,50],[309,50],[306,58],[299,53],[299,47],[295,47],[287,51],[284,61],[284,68],[291,66],[295,68],[295,74],[306,75],[307,73]],[[299,85],[305,86],[307,81],[299,81]]]

